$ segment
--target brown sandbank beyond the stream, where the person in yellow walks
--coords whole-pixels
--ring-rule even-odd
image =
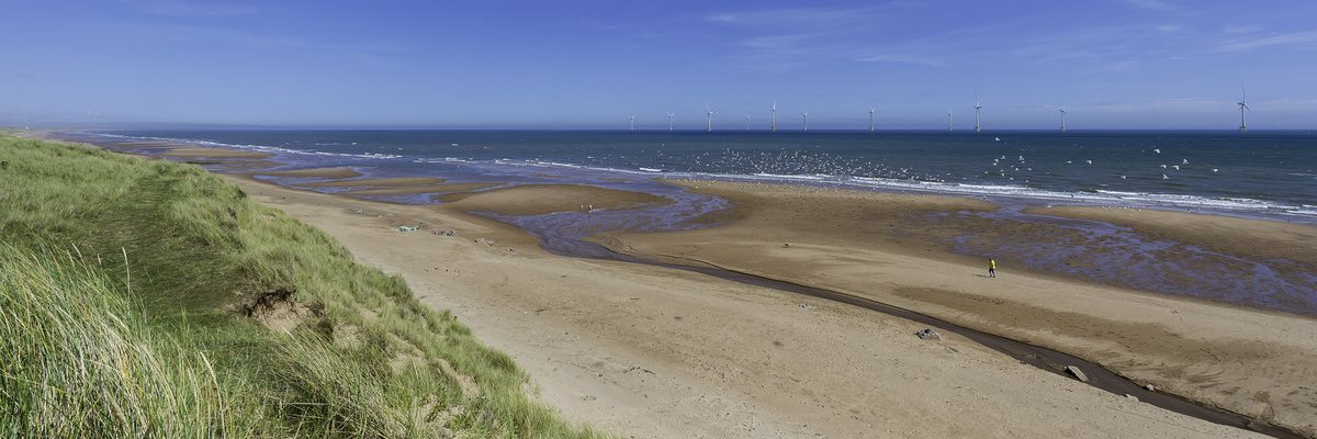
[[[954,221],[923,220],[928,211],[975,208],[968,200],[748,183],[691,186],[730,198],[738,206],[732,223],[611,235],[605,241],[864,295],[1094,360],[1137,382],[1317,435],[1314,319],[1018,274],[1010,266],[998,266],[1001,277],[988,279],[982,261],[948,254],[939,244],[946,236],[939,228]],[[1193,223],[1175,215],[1164,220]],[[1292,224],[1274,229],[1270,223],[1239,221],[1200,233],[1270,236],[1252,240],[1247,252],[1255,254],[1276,252],[1264,248],[1274,240],[1312,233]]]

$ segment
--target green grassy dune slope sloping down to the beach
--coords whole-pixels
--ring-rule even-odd
[[[605,436],[217,175],[7,134],[0,161],[3,436]]]

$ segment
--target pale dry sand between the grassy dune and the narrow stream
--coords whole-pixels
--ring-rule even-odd
[[[686,272],[548,256],[522,232],[453,207],[241,183],[255,199],[336,236],[362,261],[402,274],[425,303],[452,308],[482,340],[512,355],[569,418],[626,436],[1251,436],[1039,372],[956,336],[921,340],[911,335],[921,327],[906,320]],[[590,196],[597,207],[633,202],[573,191],[570,199]],[[540,195],[468,200],[531,211],[578,207]],[[420,221],[457,236],[398,232]]]

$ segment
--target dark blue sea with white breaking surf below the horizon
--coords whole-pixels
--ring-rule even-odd
[[[836,185],[1317,223],[1317,132],[117,131],[375,174]],[[506,175],[503,175],[506,177]]]

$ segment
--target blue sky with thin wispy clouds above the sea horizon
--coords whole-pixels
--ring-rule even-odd
[[[1317,1],[8,1],[0,124],[1317,127]]]

